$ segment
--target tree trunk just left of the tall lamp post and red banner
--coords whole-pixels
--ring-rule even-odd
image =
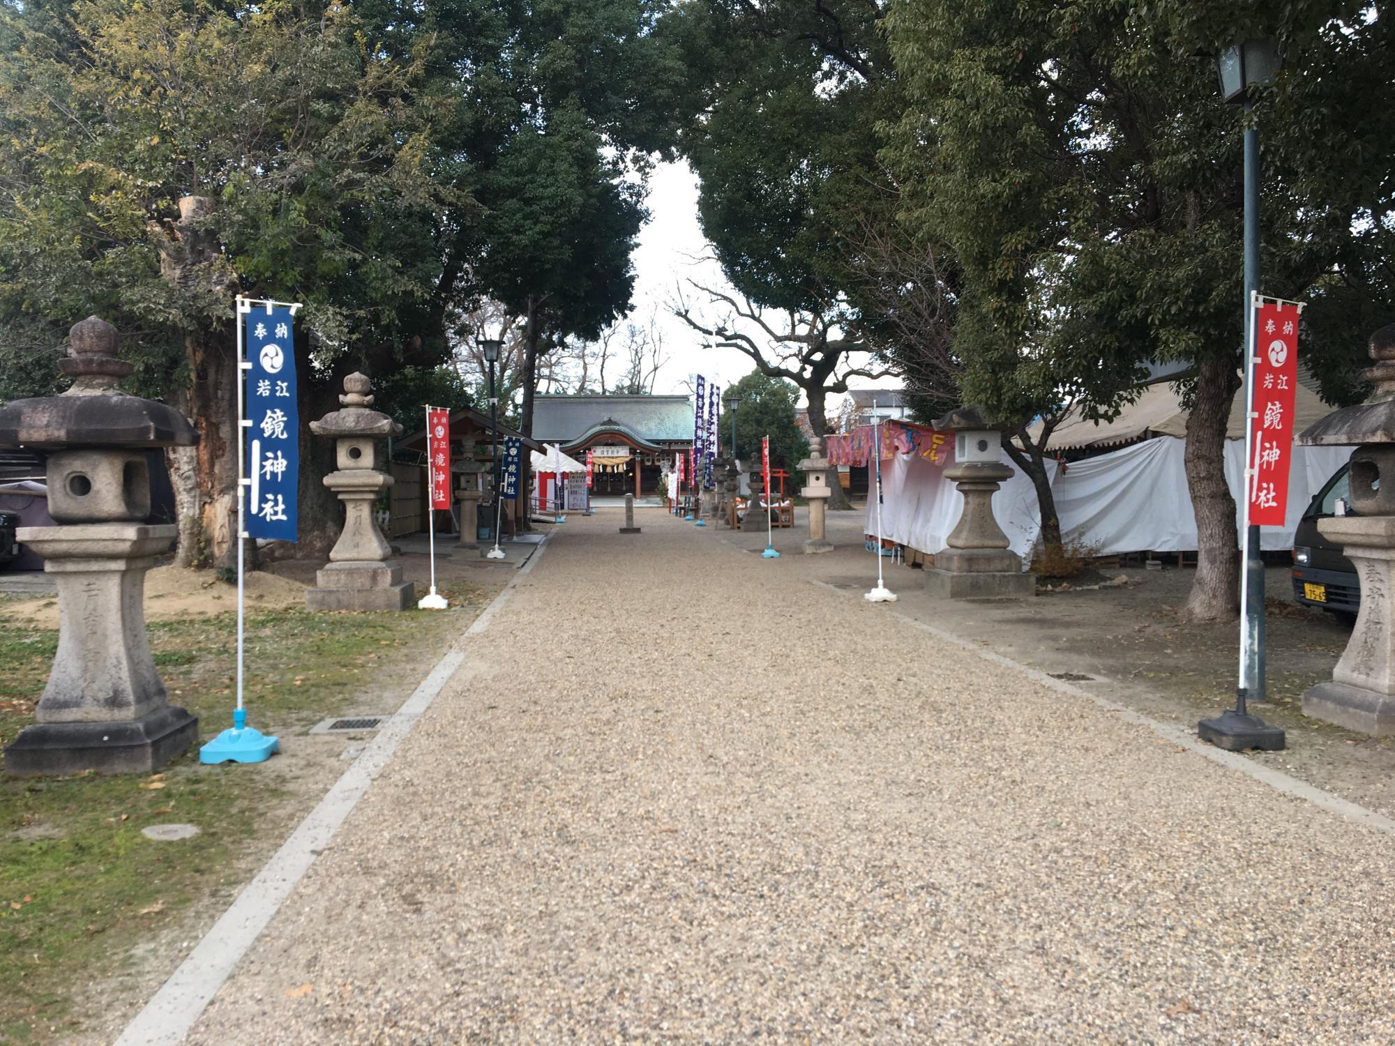
[[[1225,481],[1225,425],[1239,388],[1233,358],[1200,361],[1186,449],[1187,490],[1197,519],[1197,573],[1182,611],[1184,621],[1226,621],[1240,608],[1235,498]]]

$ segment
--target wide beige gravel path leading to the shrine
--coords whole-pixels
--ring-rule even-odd
[[[569,519],[191,1042],[1395,1040],[1385,837],[638,522]]]

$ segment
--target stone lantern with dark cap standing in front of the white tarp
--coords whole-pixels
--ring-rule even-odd
[[[1035,596],[1036,582],[1023,573],[1023,558],[993,517],[993,494],[1013,474],[999,460],[1002,431],[979,407],[950,411],[935,428],[954,432],[954,467],[944,474],[964,495],[964,510],[946,548],[935,555],[935,568],[925,570],[925,590],[951,600]]]

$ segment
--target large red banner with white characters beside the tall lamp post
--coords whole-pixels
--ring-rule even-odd
[[[1246,491],[1250,523],[1261,527],[1282,527],[1289,508],[1299,312],[1299,305],[1286,301],[1261,301],[1254,310],[1254,399]]]

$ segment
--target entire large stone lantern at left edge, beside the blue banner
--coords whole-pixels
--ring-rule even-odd
[[[172,707],[145,635],[145,572],[179,527],[151,526],[146,448],[193,446],[173,407],[130,396],[133,367],[116,357],[116,328],[73,326],[73,378],[61,396],[0,407],[0,446],[47,450],[53,527],[21,527],[59,589],[59,650],[35,725],[6,749],[11,774],[151,773],[198,738],[198,720]]]

